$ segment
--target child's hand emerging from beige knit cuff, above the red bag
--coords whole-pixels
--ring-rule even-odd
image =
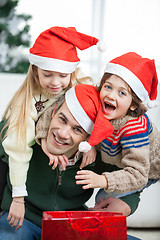
[[[75,176],[78,181],[76,184],[84,184],[83,189],[88,188],[107,188],[107,180],[104,175],[98,175],[89,170],[81,170]]]

